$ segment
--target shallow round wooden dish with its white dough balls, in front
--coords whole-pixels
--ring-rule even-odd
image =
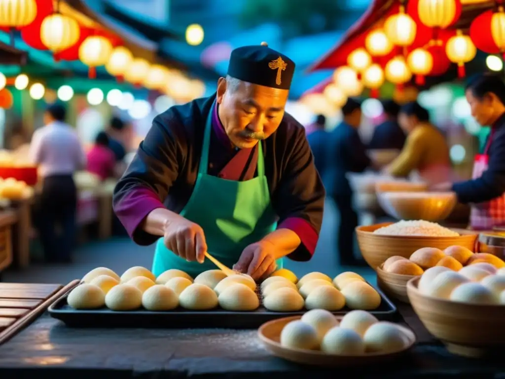
[[[363,310],[336,316],[313,309],[302,316],[268,321],[258,329],[258,337],[278,357],[318,366],[382,363],[416,342],[409,328],[380,321]]]

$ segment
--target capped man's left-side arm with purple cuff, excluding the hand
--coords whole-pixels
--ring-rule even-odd
[[[164,235],[165,223],[180,217],[163,204],[179,171],[180,149],[173,130],[166,126],[170,124],[168,117],[164,113],[154,119],[114,190],[114,211],[139,245],[156,242]]]

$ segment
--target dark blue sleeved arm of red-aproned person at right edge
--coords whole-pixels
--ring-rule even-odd
[[[494,139],[491,153],[480,178],[452,185],[461,203],[483,203],[505,193],[505,135]]]

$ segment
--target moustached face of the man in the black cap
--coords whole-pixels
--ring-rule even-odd
[[[219,116],[231,143],[240,148],[254,147],[279,127],[289,90],[239,82],[218,81]]]

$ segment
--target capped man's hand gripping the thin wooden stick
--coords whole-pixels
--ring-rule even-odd
[[[204,229],[184,217],[167,222],[164,236],[165,246],[172,250],[175,255],[188,262],[198,261],[203,263],[207,243]]]

